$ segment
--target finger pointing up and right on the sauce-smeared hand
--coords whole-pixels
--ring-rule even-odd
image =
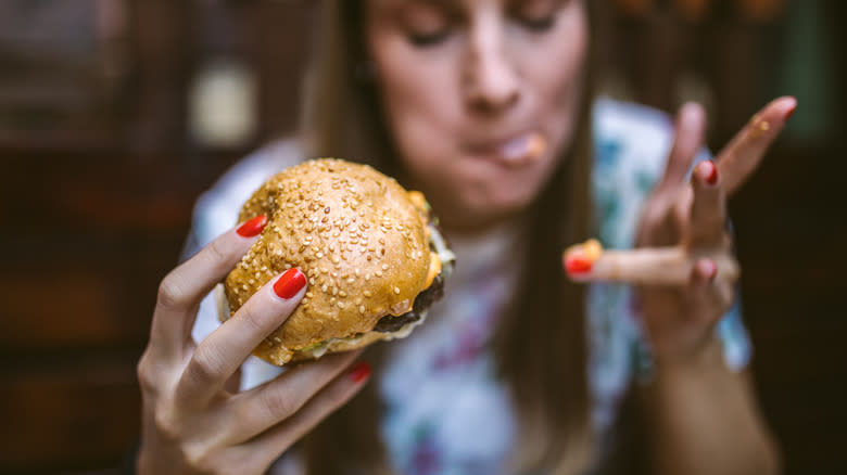
[[[728,195],[758,168],[768,147],[779,137],[797,107],[797,100],[780,98],[766,105],[718,155],[718,170]]]

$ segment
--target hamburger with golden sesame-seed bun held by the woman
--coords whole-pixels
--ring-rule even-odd
[[[319,158],[267,180],[239,222],[268,223],[218,293],[222,320],[275,275],[308,288],[253,354],[270,363],[319,358],[407,336],[443,295],[455,256],[423,195],[367,165]]]

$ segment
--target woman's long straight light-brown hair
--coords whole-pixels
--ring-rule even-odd
[[[590,25],[595,23],[593,3],[584,2]],[[324,0],[323,7],[302,120],[307,152],[356,159],[396,176],[378,86],[362,70],[367,64],[363,3]],[[584,296],[567,282],[559,262],[565,246],[589,235],[594,56],[590,51],[573,143],[529,209],[522,287],[492,339],[498,375],[511,391],[521,427],[514,472],[578,473],[593,450]],[[379,346],[368,350],[377,368],[381,354]],[[309,474],[391,472],[379,434],[377,386],[369,384],[302,440]]]

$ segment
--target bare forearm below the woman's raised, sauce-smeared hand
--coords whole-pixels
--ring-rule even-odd
[[[697,358],[657,362],[642,391],[654,473],[774,474],[778,450],[746,373],[726,368],[720,342]]]

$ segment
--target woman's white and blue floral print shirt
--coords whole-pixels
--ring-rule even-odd
[[[663,171],[672,125],[657,111],[599,99],[593,127],[596,236],[609,248],[632,247],[641,208]],[[293,143],[281,142],[236,165],[199,200],[187,255],[232,227],[241,203],[266,178],[302,158]],[[698,157],[704,158],[706,152]],[[458,266],[446,281],[444,299],[431,308],[426,324],[391,344],[390,363],[375,380],[387,407],[381,432],[397,473],[502,474],[515,446],[516,421],[508,391],[494,377],[488,341],[516,284],[518,262],[508,256],[520,253],[520,240],[516,229],[504,227],[481,240],[451,242]],[[602,441],[630,382],[648,377],[650,358],[629,286],[593,284],[587,297],[592,420]],[[217,324],[206,298],[194,338],[204,338]],[[716,331],[728,365],[744,368],[750,345],[737,305]],[[261,384],[279,371],[251,357],[242,386]]]

